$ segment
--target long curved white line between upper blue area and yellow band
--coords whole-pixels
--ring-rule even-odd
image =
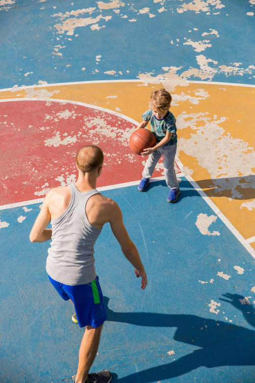
[[[91,80],[91,81],[75,81],[75,82],[59,82],[59,83],[52,83],[52,84],[34,84],[34,85],[24,85],[24,86],[17,86],[12,88],[3,88],[0,89],[0,92],[6,92],[6,91],[13,91],[16,92],[17,90],[22,89],[31,89],[31,88],[46,88],[48,86],[64,86],[64,85],[81,85],[81,84],[101,84],[101,83],[123,83],[123,82],[139,82],[144,84],[144,81],[142,80]],[[160,83],[160,82],[159,82]],[[230,86],[241,86],[241,87],[249,87],[249,88],[255,88],[255,85],[253,84],[239,84],[239,83],[230,83],[230,82],[220,82],[220,81],[193,81],[193,80],[187,80],[187,83],[191,84],[212,84],[212,85],[230,85]],[[150,84],[148,82],[148,84]],[[146,86],[146,85],[145,85]],[[188,85],[187,85],[188,86]]]

